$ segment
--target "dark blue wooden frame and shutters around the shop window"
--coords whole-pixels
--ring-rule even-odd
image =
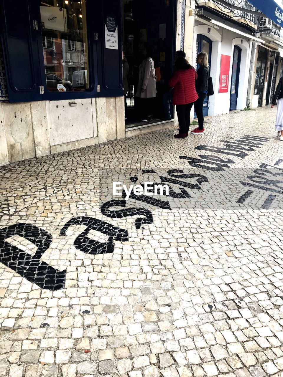
[[[23,0],[23,7],[29,17],[22,20],[13,35],[14,30],[9,25],[14,23],[14,15],[18,7],[11,0],[0,0],[0,35],[3,44],[3,55],[7,73],[7,87],[9,102],[29,102],[41,100],[76,100],[94,97],[122,97],[123,96],[123,71],[122,71],[122,14],[121,0],[88,0],[86,1],[86,25],[88,35],[88,60],[89,60],[89,88],[80,92],[50,92],[47,89],[45,77],[45,64],[42,47],[42,32],[40,22],[40,1]],[[105,48],[105,17],[114,17],[118,27],[118,50]],[[27,19],[28,18],[28,19]],[[34,20],[37,28],[34,29]],[[23,38],[20,28],[28,30],[28,38],[23,40],[29,51],[26,52],[26,61],[30,63],[22,66],[20,56],[15,49],[15,38]],[[98,35],[98,40],[97,40]],[[12,67],[17,67],[16,71]],[[28,70],[31,77],[29,87],[16,87],[14,77],[25,75]],[[22,80],[25,81],[24,79]],[[100,86],[100,92],[97,91]],[[40,93],[43,86],[44,93]]]

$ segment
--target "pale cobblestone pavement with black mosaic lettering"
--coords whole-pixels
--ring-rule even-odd
[[[0,376],[282,377],[274,121],[235,112],[199,137],[2,167]],[[114,179],[170,192],[125,201]]]

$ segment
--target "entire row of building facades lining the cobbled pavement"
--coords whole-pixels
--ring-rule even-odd
[[[177,124],[162,97],[179,49],[196,68],[208,53],[204,115],[270,104],[281,11],[282,0],[0,0],[0,165]],[[160,77],[151,123],[135,97],[145,48]]]

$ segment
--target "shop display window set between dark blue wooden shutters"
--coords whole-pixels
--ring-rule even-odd
[[[46,85],[51,92],[89,87],[86,0],[41,2]]]

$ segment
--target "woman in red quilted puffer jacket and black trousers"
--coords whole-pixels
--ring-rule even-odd
[[[174,74],[169,80],[169,86],[174,87],[173,105],[176,105],[180,131],[174,138],[184,139],[188,137],[190,126],[190,112],[192,105],[198,99],[195,90],[197,73],[188,60],[177,58],[174,66]]]

